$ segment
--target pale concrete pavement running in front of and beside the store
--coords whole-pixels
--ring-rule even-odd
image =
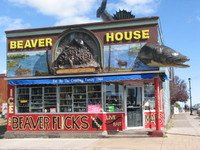
[[[194,113],[195,114],[195,113]],[[100,139],[1,139],[0,150],[199,150],[200,117],[180,113],[167,137]]]

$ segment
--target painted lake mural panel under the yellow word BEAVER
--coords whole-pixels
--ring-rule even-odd
[[[48,75],[47,52],[13,52],[7,55],[7,76],[41,76]]]

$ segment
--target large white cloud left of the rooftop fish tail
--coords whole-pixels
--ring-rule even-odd
[[[39,13],[53,16],[57,19],[56,25],[85,23],[96,21],[90,19],[95,12],[97,0],[9,0],[10,2],[35,8]],[[95,8],[96,9],[96,8]],[[95,14],[94,14],[95,17]]]

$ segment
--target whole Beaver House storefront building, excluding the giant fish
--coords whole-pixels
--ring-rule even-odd
[[[137,58],[158,19],[6,31],[7,134],[164,127],[166,72]]]

